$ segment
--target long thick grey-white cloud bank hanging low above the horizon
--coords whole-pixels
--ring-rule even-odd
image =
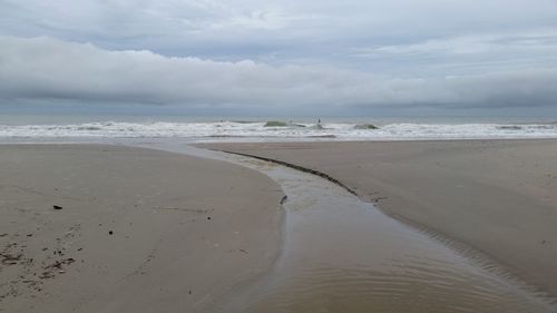
[[[74,100],[238,109],[555,107],[557,69],[397,78],[324,66],[165,57],[1,37],[0,102]]]

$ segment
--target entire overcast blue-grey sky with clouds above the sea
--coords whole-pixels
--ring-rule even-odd
[[[557,0],[0,8],[0,110],[557,116]]]

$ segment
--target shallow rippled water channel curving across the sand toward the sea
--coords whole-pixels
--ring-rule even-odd
[[[550,297],[319,176],[172,141],[133,143],[258,170],[287,195],[273,268],[216,312],[557,312]]]

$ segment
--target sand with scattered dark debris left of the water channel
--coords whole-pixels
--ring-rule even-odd
[[[197,312],[281,245],[280,187],[221,162],[2,145],[0,194],[0,312]]]

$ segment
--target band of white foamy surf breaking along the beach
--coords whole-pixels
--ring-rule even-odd
[[[196,140],[245,139],[467,139],[557,138],[557,124],[387,124],[361,129],[356,124],[296,124],[265,127],[264,123],[88,123],[71,125],[0,125],[0,138],[140,138],[183,137]]]

